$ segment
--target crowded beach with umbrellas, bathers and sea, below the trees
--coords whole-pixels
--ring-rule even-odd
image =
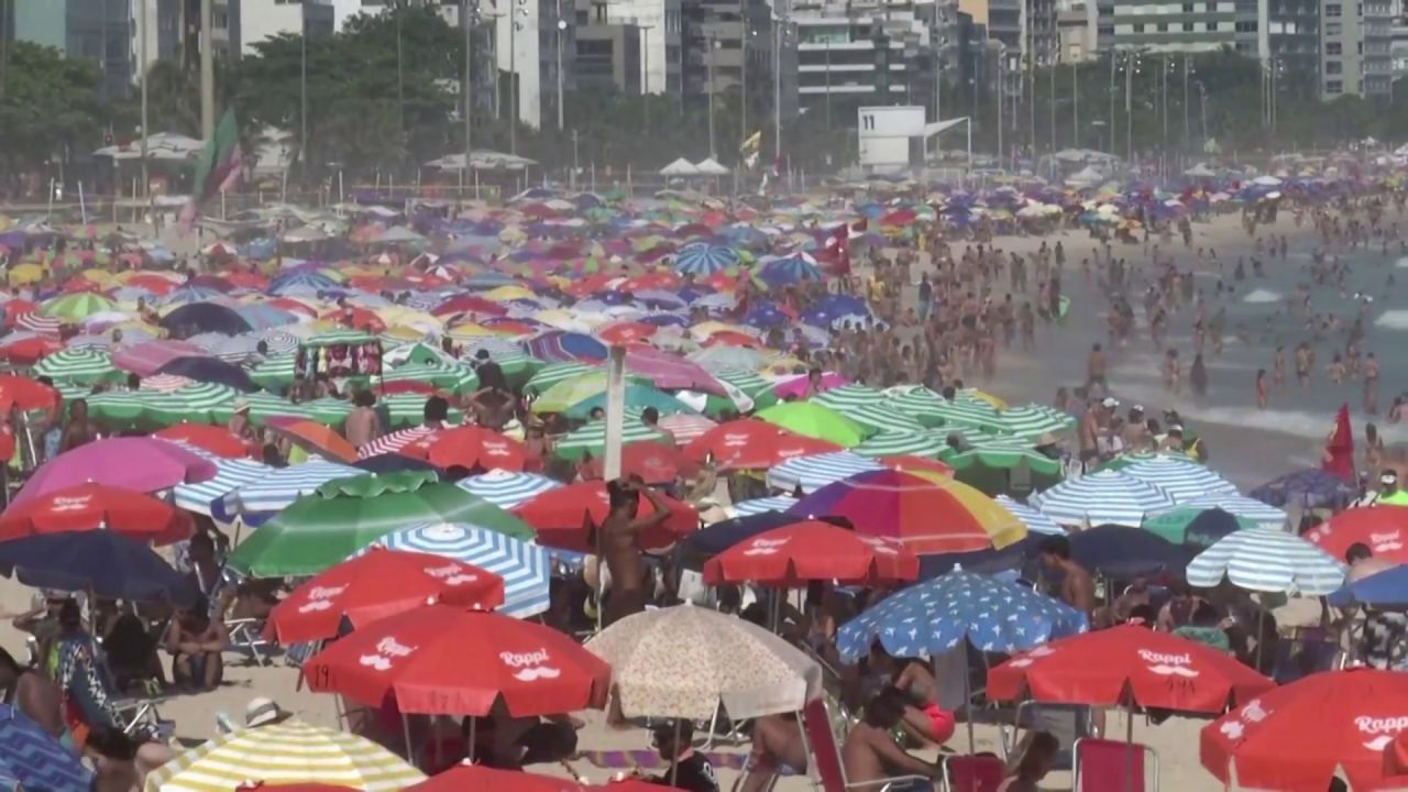
[[[0,788],[1408,788],[1405,194],[1209,173],[0,217]]]

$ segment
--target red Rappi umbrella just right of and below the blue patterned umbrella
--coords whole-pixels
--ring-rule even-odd
[[[988,669],[987,695],[1011,700],[1218,713],[1276,686],[1207,644],[1133,624],[1059,638]]]

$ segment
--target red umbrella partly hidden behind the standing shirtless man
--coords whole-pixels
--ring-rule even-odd
[[[641,545],[649,550],[669,547],[698,527],[700,514],[693,506],[663,495],[660,499],[670,507],[670,516],[663,524],[641,536]],[[607,485],[593,481],[559,486],[534,496],[513,512],[538,531],[538,544],[590,551],[591,527],[600,526],[610,512]],[[639,514],[649,516],[653,512],[650,500],[642,495]]]

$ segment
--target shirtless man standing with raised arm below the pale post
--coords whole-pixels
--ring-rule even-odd
[[[655,509],[649,517],[636,517],[641,493]],[[601,523],[601,555],[611,572],[611,599],[607,600],[603,626],[645,610],[645,559],[641,555],[641,534],[660,526],[670,517],[670,507],[655,490],[635,479],[607,482],[611,512]]]

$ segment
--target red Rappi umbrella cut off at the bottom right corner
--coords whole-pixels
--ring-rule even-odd
[[[1321,792],[1339,771],[1354,789],[1384,782],[1385,750],[1402,731],[1408,676],[1325,671],[1267,691],[1202,727],[1198,758],[1224,784]]]

